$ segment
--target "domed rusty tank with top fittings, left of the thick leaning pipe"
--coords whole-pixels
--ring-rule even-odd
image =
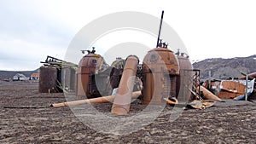
[[[84,55],[84,57],[79,61],[79,68],[76,74],[76,95],[79,100],[101,96],[96,86],[96,74],[105,70],[108,66],[101,55],[95,54],[96,51],[94,48],[92,51],[87,50],[87,52],[88,54]]]

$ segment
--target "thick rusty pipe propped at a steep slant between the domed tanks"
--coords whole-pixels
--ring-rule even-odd
[[[130,111],[131,94],[137,72],[138,58],[130,55],[125,61],[124,72],[119,83],[119,89],[113,100],[111,112],[113,114],[124,115]]]

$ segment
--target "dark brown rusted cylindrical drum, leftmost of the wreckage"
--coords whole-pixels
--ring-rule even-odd
[[[39,72],[38,91],[40,93],[57,92],[57,69],[54,66],[41,66]]]

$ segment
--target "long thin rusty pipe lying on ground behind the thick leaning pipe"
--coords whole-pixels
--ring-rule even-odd
[[[139,95],[142,95],[141,91],[133,92],[132,95],[131,95],[131,98],[137,98]],[[67,106],[82,105],[82,104],[85,104],[85,103],[113,102],[114,97],[115,97],[115,95],[108,95],[108,96],[103,96],[103,97],[97,97],[97,98],[94,98],[94,99],[54,103],[54,104],[51,104],[50,107],[67,107]]]

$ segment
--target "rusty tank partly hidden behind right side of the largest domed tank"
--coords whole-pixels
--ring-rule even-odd
[[[176,97],[179,102],[189,101],[193,85],[193,68],[189,58],[177,55],[180,67],[180,75],[177,76]]]

